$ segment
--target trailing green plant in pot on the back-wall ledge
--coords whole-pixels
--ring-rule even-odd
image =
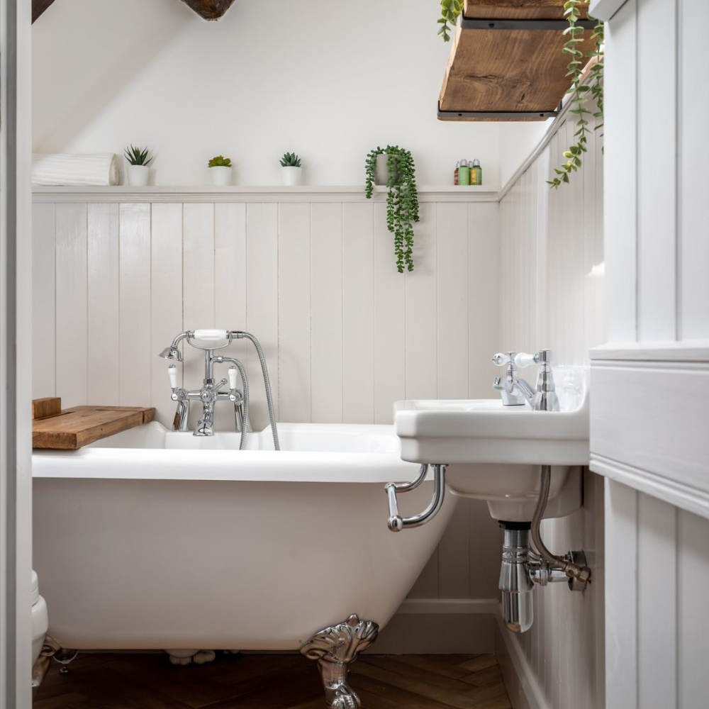
[[[386,228],[394,236],[396,270],[413,271],[413,223],[418,222],[418,191],[416,168],[411,152],[398,145],[376,147],[364,162],[364,194],[372,199],[376,156],[386,155]]]

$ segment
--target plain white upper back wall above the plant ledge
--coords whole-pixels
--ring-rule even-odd
[[[452,184],[461,157],[499,184],[499,124],[436,118],[450,50],[438,13],[430,0],[236,0],[206,22],[178,0],[59,0],[33,26],[35,152],[149,145],[155,184],[176,185],[207,184],[220,153],[236,184],[267,185],[288,150],[308,184],[342,185],[391,143],[411,150],[419,184]]]

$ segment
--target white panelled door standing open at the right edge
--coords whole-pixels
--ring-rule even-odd
[[[607,478],[613,540],[609,708],[707,704],[709,218],[696,160],[707,23],[701,0],[627,0],[606,31],[611,307],[593,353],[591,467]]]

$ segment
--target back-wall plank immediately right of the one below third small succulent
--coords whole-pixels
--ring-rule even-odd
[[[311,416],[342,423],[342,204],[311,205]]]

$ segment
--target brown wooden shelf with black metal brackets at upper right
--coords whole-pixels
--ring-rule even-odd
[[[469,29],[465,20],[562,20],[564,0],[467,0],[453,38],[438,107],[444,121],[541,121],[569,89],[562,30]],[[563,29],[563,26],[562,26]],[[593,48],[584,33],[581,52]],[[466,116],[507,113],[508,116]],[[516,116],[515,114],[523,114]],[[536,116],[534,114],[537,114]]]

